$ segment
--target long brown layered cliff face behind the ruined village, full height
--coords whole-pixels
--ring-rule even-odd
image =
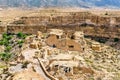
[[[58,13],[57,13],[58,14]],[[61,13],[59,13],[61,14]],[[64,13],[65,16],[22,17],[8,25],[10,33],[45,32],[51,28],[81,30],[85,35],[120,38],[120,17],[100,17],[88,12]]]

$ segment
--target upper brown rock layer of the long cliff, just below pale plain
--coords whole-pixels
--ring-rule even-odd
[[[93,15],[88,12],[71,12],[71,13],[55,13],[56,15],[49,16],[31,16],[31,17],[22,17],[18,20],[19,23],[23,24],[40,24],[40,23],[49,23],[49,24],[69,24],[69,23],[82,23],[89,20],[91,23],[95,24],[110,24],[111,17],[103,17]],[[115,23],[120,22],[120,17],[113,17]],[[16,22],[16,21],[15,21]],[[14,24],[16,24],[13,22]]]

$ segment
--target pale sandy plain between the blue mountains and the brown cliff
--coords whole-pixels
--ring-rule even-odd
[[[111,9],[83,9],[83,8],[33,8],[33,9],[22,9],[22,8],[0,8],[0,22],[7,24],[15,19],[19,19],[22,16],[34,16],[34,15],[45,15],[48,11],[57,12],[91,12],[96,15],[106,16],[120,16],[120,10]],[[41,12],[41,14],[37,14]],[[42,14],[43,13],[43,14]],[[48,14],[48,13],[47,13]]]

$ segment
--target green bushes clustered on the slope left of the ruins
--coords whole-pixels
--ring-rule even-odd
[[[5,62],[9,61],[12,57],[11,49],[14,48],[14,46],[16,45],[18,45],[19,48],[21,48],[26,37],[27,35],[21,32],[19,32],[17,35],[4,33],[2,35],[2,39],[0,40],[0,45],[4,46],[5,50],[4,52],[0,52],[0,59]]]

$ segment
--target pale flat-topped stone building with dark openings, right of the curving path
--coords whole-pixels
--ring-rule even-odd
[[[50,70],[54,70],[55,72],[59,72],[59,74],[73,75],[73,67],[77,67],[79,63],[76,61],[53,61],[50,64]]]

